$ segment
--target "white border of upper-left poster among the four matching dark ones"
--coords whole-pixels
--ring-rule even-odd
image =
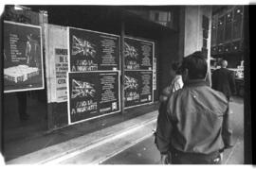
[[[119,66],[118,66],[118,70],[120,70],[120,68],[121,68],[121,65],[120,65],[120,36],[119,35],[116,35],[116,34],[111,34],[111,33],[105,33],[105,32],[100,32],[100,31],[95,31],[95,30],[90,30],[90,29],[84,29],[84,28],[78,28],[78,27],[73,27],[73,26],[67,26],[67,48],[68,48],[68,72],[72,72],[71,71],[71,67],[70,67],[70,45],[69,45],[69,43],[70,43],[70,39],[69,39],[69,35],[70,35],[70,28],[71,29],[77,29],[77,30],[82,30],[82,31],[87,31],[87,32],[93,32],[93,33],[98,33],[98,34],[104,34],[104,35],[112,35],[112,36],[114,36],[114,37],[117,37],[117,38],[119,38]],[[98,70],[97,70],[98,71]],[[103,70],[99,70],[99,71],[103,71]],[[115,70],[105,70],[105,71],[115,71]],[[78,72],[78,71],[76,71],[76,72]],[[90,71],[90,72],[92,72],[92,71]]]

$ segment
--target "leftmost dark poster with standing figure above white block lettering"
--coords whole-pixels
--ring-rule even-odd
[[[4,93],[44,89],[41,27],[4,21],[3,37]]]

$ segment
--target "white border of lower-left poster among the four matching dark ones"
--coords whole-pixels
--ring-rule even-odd
[[[119,110],[117,111],[113,111],[113,112],[110,112],[110,113],[106,113],[106,114],[102,114],[102,115],[99,115],[99,116],[94,116],[94,117],[91,117],[91,118],[88,118],[88,119],[83,119],[83,120],[80,120],[80,121],[76,121],[76,122],[71,122],[71,116],[70,116],[70,97],[69,97],[69,74],[90,74],[90,73],[118,73],[118,77],[120,76],[120,71],[90,71],[90,72],[68,72],[67,74],[67,119],[68,119],[68,126],[70,125],[75,125],[75,124],[79,124],[79,123],[82,123],[82,122],[85,122],[85,121],[89,121],[89,120],[93,120],[93,119],[97,119],[97,118],[100,118],[100,117],[103,117],[103,116],[107,116],[107,115],[110,115],[110,114],[114,114],[114,113],[118,113],[120,112],[120,80],[119,80]]]

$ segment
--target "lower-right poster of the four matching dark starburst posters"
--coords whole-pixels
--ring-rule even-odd
[[[124,72],[125,108],[153,103],[152,71]]]

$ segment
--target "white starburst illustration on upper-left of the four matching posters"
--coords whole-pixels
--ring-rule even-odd
[[[95,58],[96,50],[94,49],[94,44],[91,42],[82,40],[80,38],[77,38],[76,36],[72,36],[72,55],[77,55],[82,53],[83,56],[90,56],[92,58]]]

